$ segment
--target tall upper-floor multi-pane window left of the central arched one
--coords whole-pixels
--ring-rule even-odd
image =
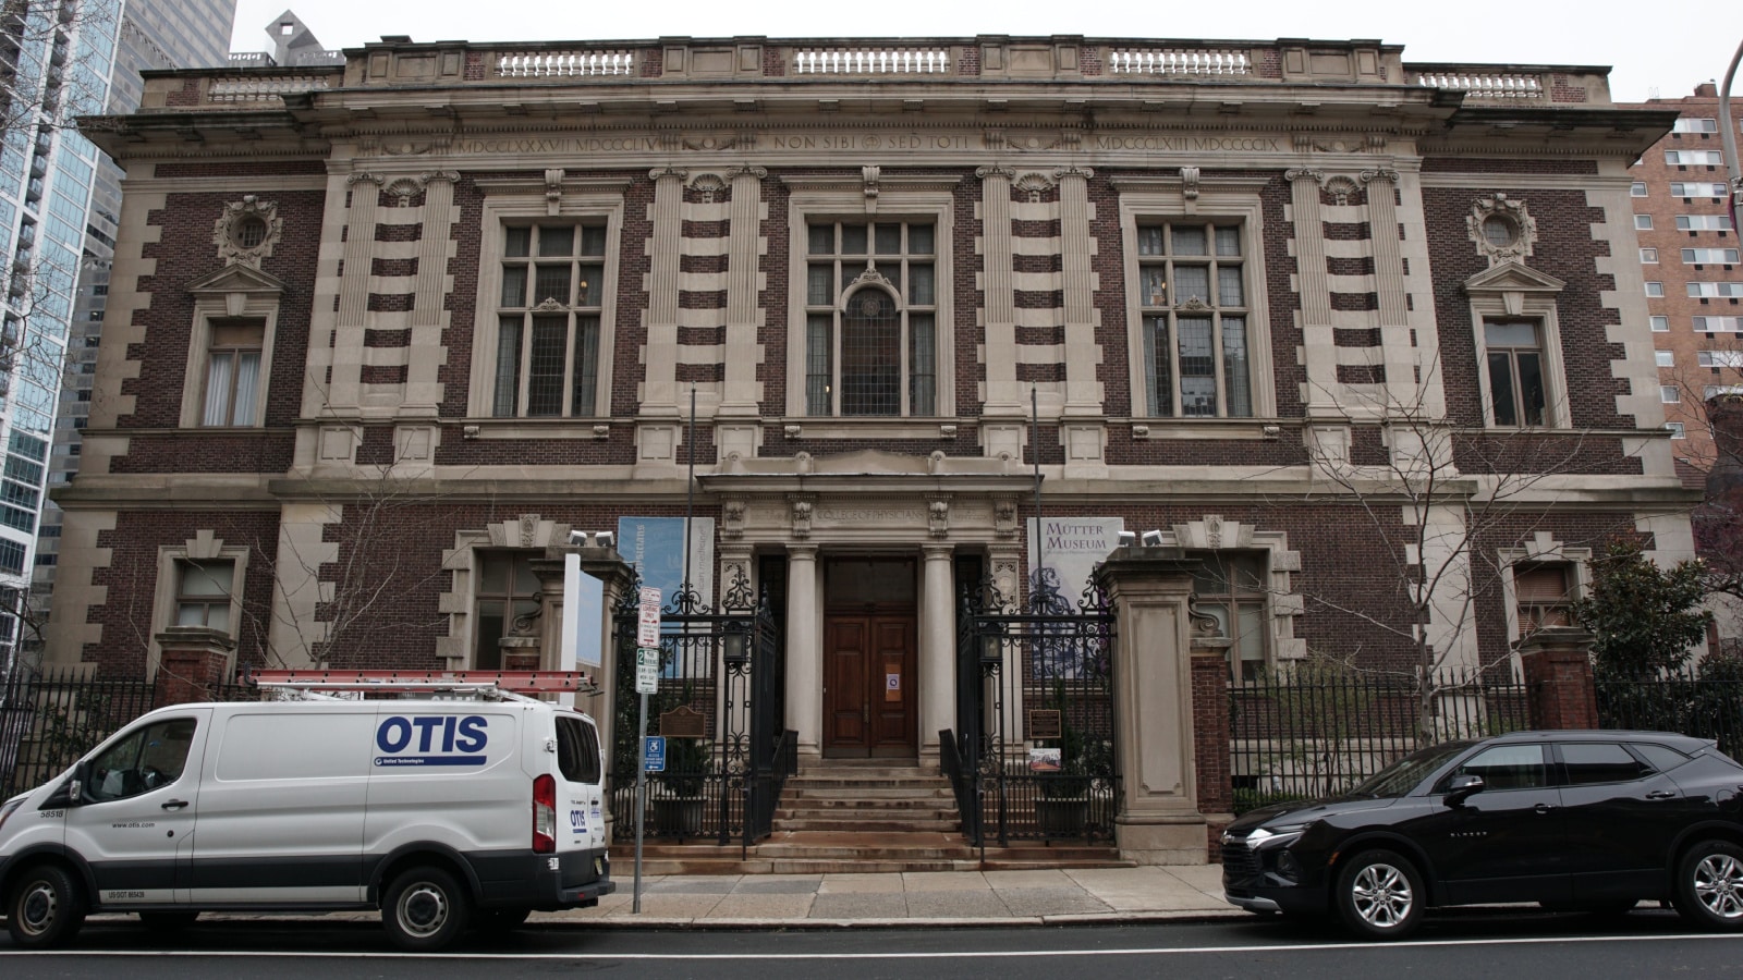
[[[598,415],[605,225],[502,228],[492,415]]]

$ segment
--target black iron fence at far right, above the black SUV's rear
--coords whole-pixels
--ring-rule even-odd
[[[1719,741],[1743,755],[1743,677],[1679,673],[1670,677],[1600,677],[1598,725],[1680,732]]]

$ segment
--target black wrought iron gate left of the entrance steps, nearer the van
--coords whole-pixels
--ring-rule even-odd
[[[612,818],[619,840],[636,828],[634,685],[638,588],[617,607],[617,682]],[[781,633],[767,598],[756,602],[741,572],[720,610],[687,589],[661,610],[659,691],[648,696],[648,734],[666,736],[666,771],[648,772],[650,839],[737,840],[772,832],[774,807],[797,771],[786,731]]]

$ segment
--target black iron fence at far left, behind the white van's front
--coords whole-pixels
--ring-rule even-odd
[[[82,668],[17,666],[0,678],[0,799],[40,786],[157,704],[159,678],[96,677]],[[253,701],[228,684],[211,701]]]

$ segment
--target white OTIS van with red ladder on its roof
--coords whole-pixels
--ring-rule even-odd
[[[593,720],[455,677],[263,684],[293,699],[136,718],[0,806],[12,942],[63,943],[87,912],[380,909],[397,947],[432,950],[598,905],[615,886]]]

